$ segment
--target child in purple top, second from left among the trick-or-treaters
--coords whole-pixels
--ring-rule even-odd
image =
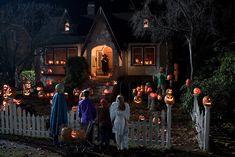
[[[93,125],[96,118],[95,104],[89,99],[90,91],[82,91],[83,99],[78,103],[78,115],[81,120],[83,129],[86,131],[87,140],[92,143]]]

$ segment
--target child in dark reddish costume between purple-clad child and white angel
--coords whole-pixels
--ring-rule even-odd
[[[109,113],[109,102],[102,98],[100,100],[99,109],[99,136],[101,141],[101,148],[107,148],[109,146],[109,140],[112,132],[112,124]]]

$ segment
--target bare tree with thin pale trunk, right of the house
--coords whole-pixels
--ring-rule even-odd
[[[146,0],[143,9],[133,15],[133,33],[137,37],[149,35],[153,41],[169,39],[175,33],[182,35],[188,44],[190,78],[193,79],[192,46],[200,33],[216,33],[213,0],[156,1]],[[156,6],[153,6],[153,3]],[[143,19],[149,20],[148,28],[143,28]]]

